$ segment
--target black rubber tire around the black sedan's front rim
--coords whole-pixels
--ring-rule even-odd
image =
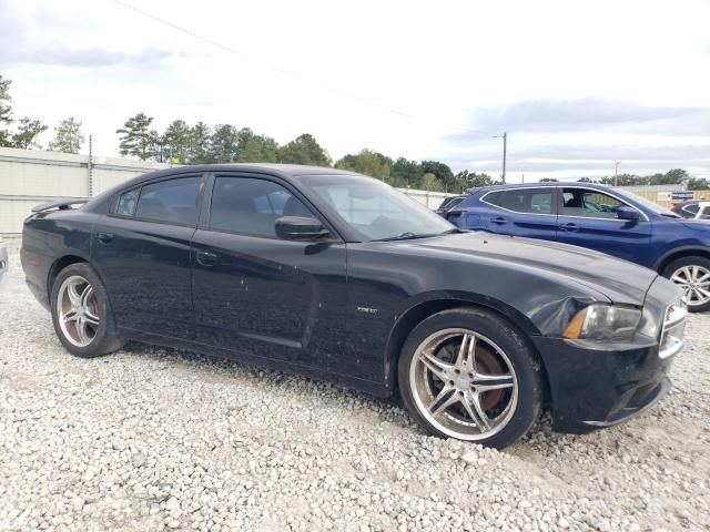
[[[417,375],[417,370],[413,369],[413,364],[422,364],[415,362],[417,349],[420,346],[424,346],[425,341],[428,341],[437,334],[446,334],[447,329],[466,329],[473,331],[476,335],[479,335],[479,339],[477,339],[477,341],[483,341],[483,348],[485,348],[485,350],[488,352],[495,352],[486,341],[486,339],[490,340],[494,344],[493,348],[497,347],[501,349],[504,351],[504,356],[507,357],[506,364],[511,366],[511,371],[508,371],[508,374],[511,381],[517,380],[517,396],[515,396],[515,401],[511,400],[514,393],[511,388],[508,399],[509,407],[507,407],[508,413],[501,420],[501,428],[499,428],[497,432],[490,433],[490,436],[478,434],[476,437],[476,434],[463,434],[462,437],[460,434],[457,436],[456,433],[452,433],[450,430],[449,433],[444,432],[446,428],[442,429],[440,427],[437,427],[426,417],[430,416],[436,421],[436,415],[432,415],[429,411],[425,413],[423,411],[424,409],[418,406],[417,400],[415,399],[415,393],[417,392],[414,390],[414,387],[417,385],[413,385],[412,375],[413,372],[414,375]],[[480,345],[476,344],[476,346]],[[443,348],[437,347],[436,349]],[[456,350],[458,348],[453,347],[449,349]],[[476,355],[478,349],[479,347],[475,348],[474,359],[477,357],[480,358],[479,355]],[[478,365],[479,362],[476,364]],[[478,371],[478,369],[476,371]],[[422,321],[409,334],[409,337],[402,348],[397,372],[402,398],[412,417],[429,433],[442,438],[457,438],[464,441],[471,441],[483,446],[503,449],[526,434],[540,415],[544,400],[542,366],[532,349],[529,347],[524,334],[504,318],[488,310],[480,308],[456,308],[435,314]],[[423,375],[425,375],[425,377],[422,377],[422,379],[438,380],[438,378],[434,377],[434,374],[426,377],[428,374],[425,371]],[[471,374],[469,374],[469,376]],[[424,382],[425,380],[420,381]],[[428,382],[436,381],[428,380]],[[469,386],[473,391],[476,391],[476,382],[471,382]],[[455,393],[456,392],[454,392],[454,395]],[[459,391],[458,393],[462,392]],[[420,393],[418,397],[420,397]],[[484,412],[488,413],[489,411],[493,411],[490,408],[486,410],[485,401],[480,399],[485,396],[479,395],[478,397],[479,402],[483,405]],[[444,399],[444,402],[445,401],[446,399]],[[420,400],[419,402],[423,401]],[[515,407],[513,407],[514,402]],[[463,408],[463,405],[464,402],[462,401],[462,407],[458,408]],[[449,408],[456,408],[456,405]],[[493,408],[495,409],[498,407]],[[448,417],[448,409],[444,413]],[[503,424],[503,421],[505,421],[505,424]]]

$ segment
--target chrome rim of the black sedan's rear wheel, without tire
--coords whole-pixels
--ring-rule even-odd
[[[57,314],[64,338],[87,347],[99,331],[99,304],[91,284],[80,275],[67,277],[57,294]]]

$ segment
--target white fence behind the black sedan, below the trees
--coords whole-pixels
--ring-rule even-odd
[[[0,147],[0,235],[20,236],[30,209],[55,198],[87,197],[169,164]],[[404,190],[436,208],[452,194]]]

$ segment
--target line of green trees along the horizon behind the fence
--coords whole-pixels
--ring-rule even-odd
[[[12,82],[0,75],[0,146],[42,150],[39,137],[49,126],[40,119],[24,116],[17,121],[14,131],[8,126],[16,121],[9,89]],[[84,143],[81,122],[73,116],[62,120],[54,129],[54,139],[47,149],[64,153],[79,153]],[[237,129],[232,124],[210,126],[204,122],[187,124],[173,120],[164,131],[153,126],[153,117],[143,112],[129,117],[116,130],[122,156],[142,161],[172,162],[176,164],[204,163],[286,163],[314,166],[334,166],[376,177],[393,186],[460,194],[476,186],[499,183],[485,173],[464,170],[454,173],[438,161],[392,158],[374,150],[364,149],[333,161],[328,152],[310,133],[303,133],[286,144],[261,135],[250,127]],[[558,181],[556,178],[542,178]],[[613,185],[615,177],[581,177],[579,182],[598,182]],[[688,190],[710,190],[708,180],[692,177],[681,168],[652,175],[620,174],[619,186],[682,184]]]

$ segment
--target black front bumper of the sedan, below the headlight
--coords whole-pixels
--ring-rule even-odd
[[[550,388],[552,429],[585,433],[639,416],[668,392],[673,356],[658,342],[599,346],[588,340],[535,338]]]

